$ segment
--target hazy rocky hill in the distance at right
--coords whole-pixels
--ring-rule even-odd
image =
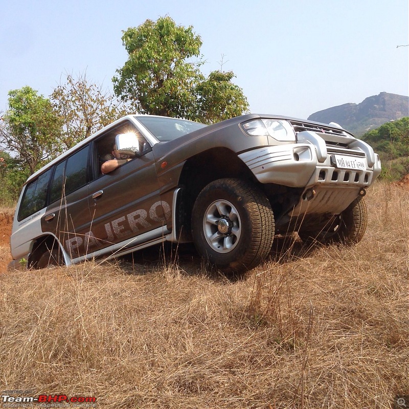
[[[380,93],[359,104],[348,103],[313,113],[311,121],[336,122],[360,137],[385,122],[409,116],[409,97]]]

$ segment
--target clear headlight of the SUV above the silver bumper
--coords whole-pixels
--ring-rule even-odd
[[[296,141],[296,134],[292,126],[284,120],[252,119],[240,124],[240,126],[249,137],[270,136],[281,142]]]

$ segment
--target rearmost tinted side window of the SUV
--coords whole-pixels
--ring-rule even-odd
[[[51,176],[51,169],[33,180],[24,192],[18,210],[17,220],[25,219],[46,207],[47,188]]]

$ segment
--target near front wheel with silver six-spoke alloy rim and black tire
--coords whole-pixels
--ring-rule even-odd
[[[192,235],[198,253],[223,272],[242,273],[266,258],[274,239],[266,196],[240,179],[218,179],[198,195]]]

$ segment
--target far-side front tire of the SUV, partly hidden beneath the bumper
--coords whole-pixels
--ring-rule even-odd
[[[303,241],[353,245],[362,240],[367,230],[367,221],[365,201],[362,196],[358,196],[341,214],[333,216],[320,231],[300,231],[299,236]]]

